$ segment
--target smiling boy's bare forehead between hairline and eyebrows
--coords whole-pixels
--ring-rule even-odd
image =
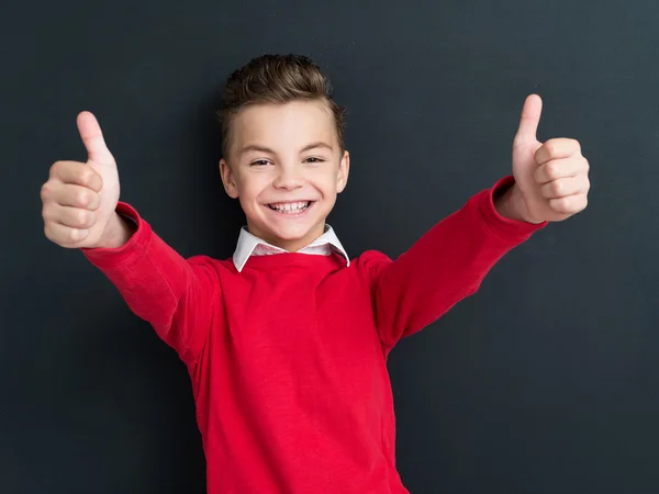
[[[310,142],[337,145],[334,117],[320,101],[247,106],[236,115],[232,132],[236,149],[246,144],[275,149],[302,147]]]

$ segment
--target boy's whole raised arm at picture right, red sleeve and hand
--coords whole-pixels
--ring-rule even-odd
[[[369,267],[375,316],[386,349],[474,293],[506,252],[547,222],[585,209],[589,162],[574,139],[536,139],[539,97],[523,106],[513,141],[513,175],[473,195],[391,261],[373,255]]]

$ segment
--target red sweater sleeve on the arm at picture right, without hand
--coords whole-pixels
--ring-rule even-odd
[[[367,257],[376,324],[387,351],[473,294],[499,259],[546,225],[499,214],[493,197],[513,183],[505,177],[477,193],[396,260],[375,251]]]

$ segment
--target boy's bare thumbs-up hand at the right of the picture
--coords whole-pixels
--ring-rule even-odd
[[[499,205],[503,215],[528,223],[560,222],[583,211],[590,190],[590,166],[578,141],[537,141],[541,111],[537,94],[526,98],[513,141],[515,186]]]

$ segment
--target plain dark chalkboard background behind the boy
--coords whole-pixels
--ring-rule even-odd
[[[529,93],[540,141],[579,139],[589,207],[505,256],[390,358],[414,494],[659,492],[659,4],[10,2],[0,15],[0,492],[202,493],[177,356],[79,251],[40,188],[83,160],[92,111],[122,199],[181,255],[232,254],[217,173],[224,79],[299,53],[348,109],[350,256],[404,251],[510,173]]]

